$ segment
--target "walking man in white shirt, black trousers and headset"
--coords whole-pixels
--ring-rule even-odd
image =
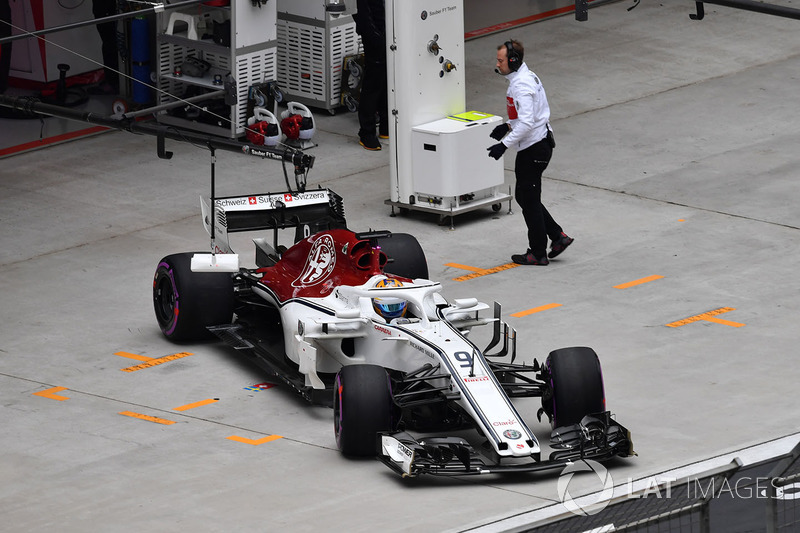
[[[517,150],[514,162],[514,196],[522,208],[528,227],[528,250],[514,254],[511,260],[520,265],[547,265],[572,244],[561,226],[542,205],[542,173],[550,163],[555,139],[550,129],[550,104],[539,77],[522,58],[525,49],[515,40],[497,47],[495,72],[508,81],[506,109],[508,122],[495,127],[490,137],[500,141],[487,148],[489,157],[500,159],[507,148]],[[550,253],[547,239],[550,238]]]

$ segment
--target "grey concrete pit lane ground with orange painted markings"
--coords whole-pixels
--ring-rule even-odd
[[[464,215],[454,231],[389,217],[388,150],[358,146],[355,115],[317,115],[309,180],[345,198],[353,229],[417,235],[449,297],[501,302],[523,359],[594,347],[639,453],[609,465],[619,483],[800,431],[800,23],[626,7],[510,32],[553,109],[545,203],[576,238],[550,266],[455,281],[467,271],[448,264],[488,269],[525,248],[518,209]],[[471,109],[503,112],[504,38],[466,45]],[[0,161],[0,529],[462,531],[558,501],[556,474],[404,481],[343,458],[330,410],[249,389],[264,375],[223,346],[167,342],[152,272],[206,246],[209,182],[207,151],[168,149],[159,160],[154,138],[111,132]],[[513,153],[505,165],[511,182]],[[217,178],[221,194],[283,187],[279,164],[230,153]],[[142,362],[130,354],[180,352],[121,371]],[[175,410],[204,400],[218,401]],[[521,405],[546,442],[536,401]]]

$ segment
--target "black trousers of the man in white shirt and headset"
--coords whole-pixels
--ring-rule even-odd
[[[514,174],[517,178],[514,195],[522,208],[522,216],[528,226],[528,247],[534,257],[547,255],[547,238],[558,240],[561,226],[542,205],[542,173],[550,163],[553,148],[547,139],[517,152]]]

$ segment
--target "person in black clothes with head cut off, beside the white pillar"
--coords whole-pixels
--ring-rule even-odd
[[[356,32],[364,47],[364,79],[358,102],[359,144],[367,150],[380,150],[375,135],[376,115],[380,136],[389,137],[388,95],[386,89],[386,8],[384,0],[358,0],[353,15]]]

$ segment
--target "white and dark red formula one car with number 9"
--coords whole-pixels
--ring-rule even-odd
[[[161,330],[175,341],[216,335],[307,400],[332,405],[343,453],[376,455],[412,477],[634,453],[606,411],[592,349],[515,364],[516,334],[498,304],[483,317],[491,308],[474,298],[448,302],[414,237],[348,230],[334,192],[204,198],[202,212],[212,253],[169,255],[156,268]],[[288,248],[278,241],[284,228],[295,229]],[[269,233],[253,239],[255,268],[240,267],[230,234],[270,229],[271,243]],[[481,350],[469,333],[489,324]],[[554,428],[547,460],[511,402],[526,396],[541,397],[539,419]],[[426,436],[454,430],[466,436]]]

